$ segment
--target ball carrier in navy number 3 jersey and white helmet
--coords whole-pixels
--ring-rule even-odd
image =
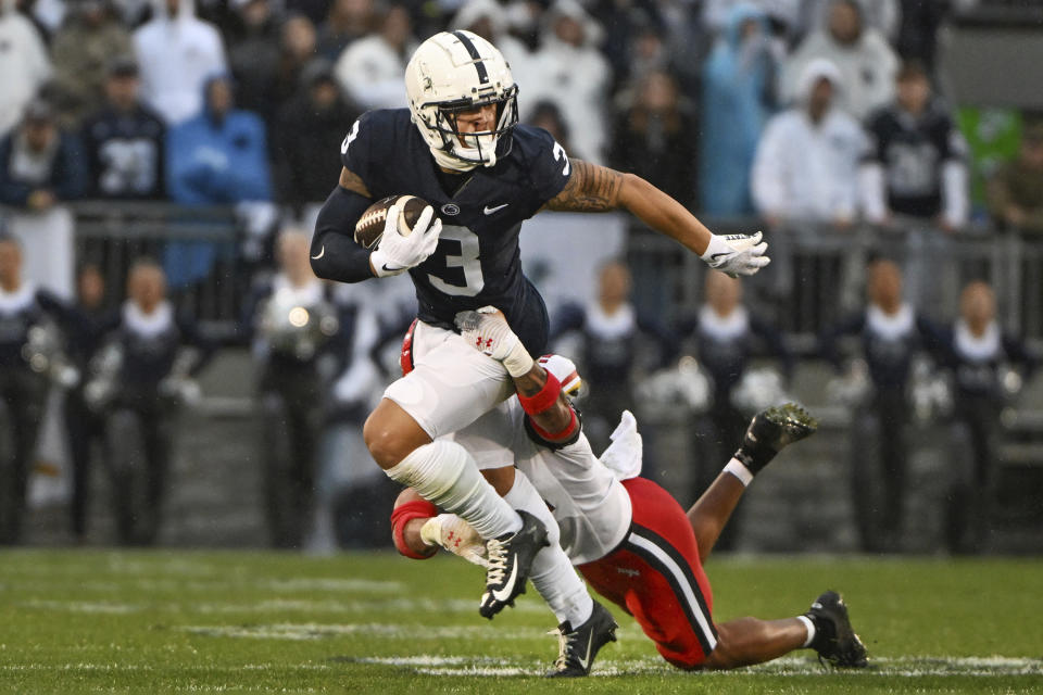
[[[474,34],[432,36],[405,73],[407,110],[369,112],[351,126],[339,186],[312,241],[312,267],[322,278],[357,282],[409,270],[416,287],[412,370],[369,416],[366,444],[389,477],[460,515],[487,540],[482,616],[511,604],[531,570],[558,619],[582,626],[593,603],[561,547],[543,548],[546,529],[526,510],[542,500],[535,490],[514,489],[513,462],[482,470],[487,484],[467,451],[442,437],[500,406],[513,394],[511,376],[527,372],[529,354],[543,351],[546,308],[522,271],[522,223],[544,208],[625,208],[732,274],[767,265],[767,244],[759,233],[715,236],[639,177],[570,161],[545,131],[518,126],[511,70]],[[376,249],[355,243],[355,223],[373,201],[403,193],[430,203],[412,232],[399,233],[401,211],[392,206]],[[453,326],[458,312],[486,305],[500,308],[520,339],[501,359],[475,351]],[[549,380],[530,406],[544,406],[560,390]]]

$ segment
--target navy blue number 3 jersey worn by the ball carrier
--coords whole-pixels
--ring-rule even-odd
[[[565,150],[539,128],[517,126],[510,154],[479,166],[454,194],[439,182],[430,150],[407,109],[370,111],[341,144],[341,161],[374,200],[423,198],[442,220],[438,249],[410,270],[420,320],[453,328],[457,312],[491,304],[532,354],[546,343],[546,307],[522,273],[522,223],[557,195],[570,168]],[[502,144],[502,143],[501,143]]]

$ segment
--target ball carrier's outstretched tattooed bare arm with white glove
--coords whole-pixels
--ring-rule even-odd
[[[656,231],[693,251],[711,267],[729,275],[753,275],[770,261],[761,232],[718,236],[679,202],[634,174],[582,160],[569,160],[573,173],[546,207],[561,212],[626,210]]]

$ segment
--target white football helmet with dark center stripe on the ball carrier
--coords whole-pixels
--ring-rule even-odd
[[[518,87],[497,48],[470,31],[441,31],[424,41],[405,66],[413,123],[440,166],[469,170],[492,166],[500,138],[518,123]],[[461,134],[456,116],[486,104],[497,106],[494,130]]]

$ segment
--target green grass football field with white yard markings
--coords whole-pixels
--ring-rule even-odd
[[[792,616],[841,590],[872,668],[810,652],[729,673],[667,667],[615,610],[595,675],[538,678],[554,619],[525,596],[492,623],[481,573],[392,554],[0,553],[3,693],[1043,692],[1043,560],[726,558],[715,617]],[[531,593],[531,587],[530,587]]]

